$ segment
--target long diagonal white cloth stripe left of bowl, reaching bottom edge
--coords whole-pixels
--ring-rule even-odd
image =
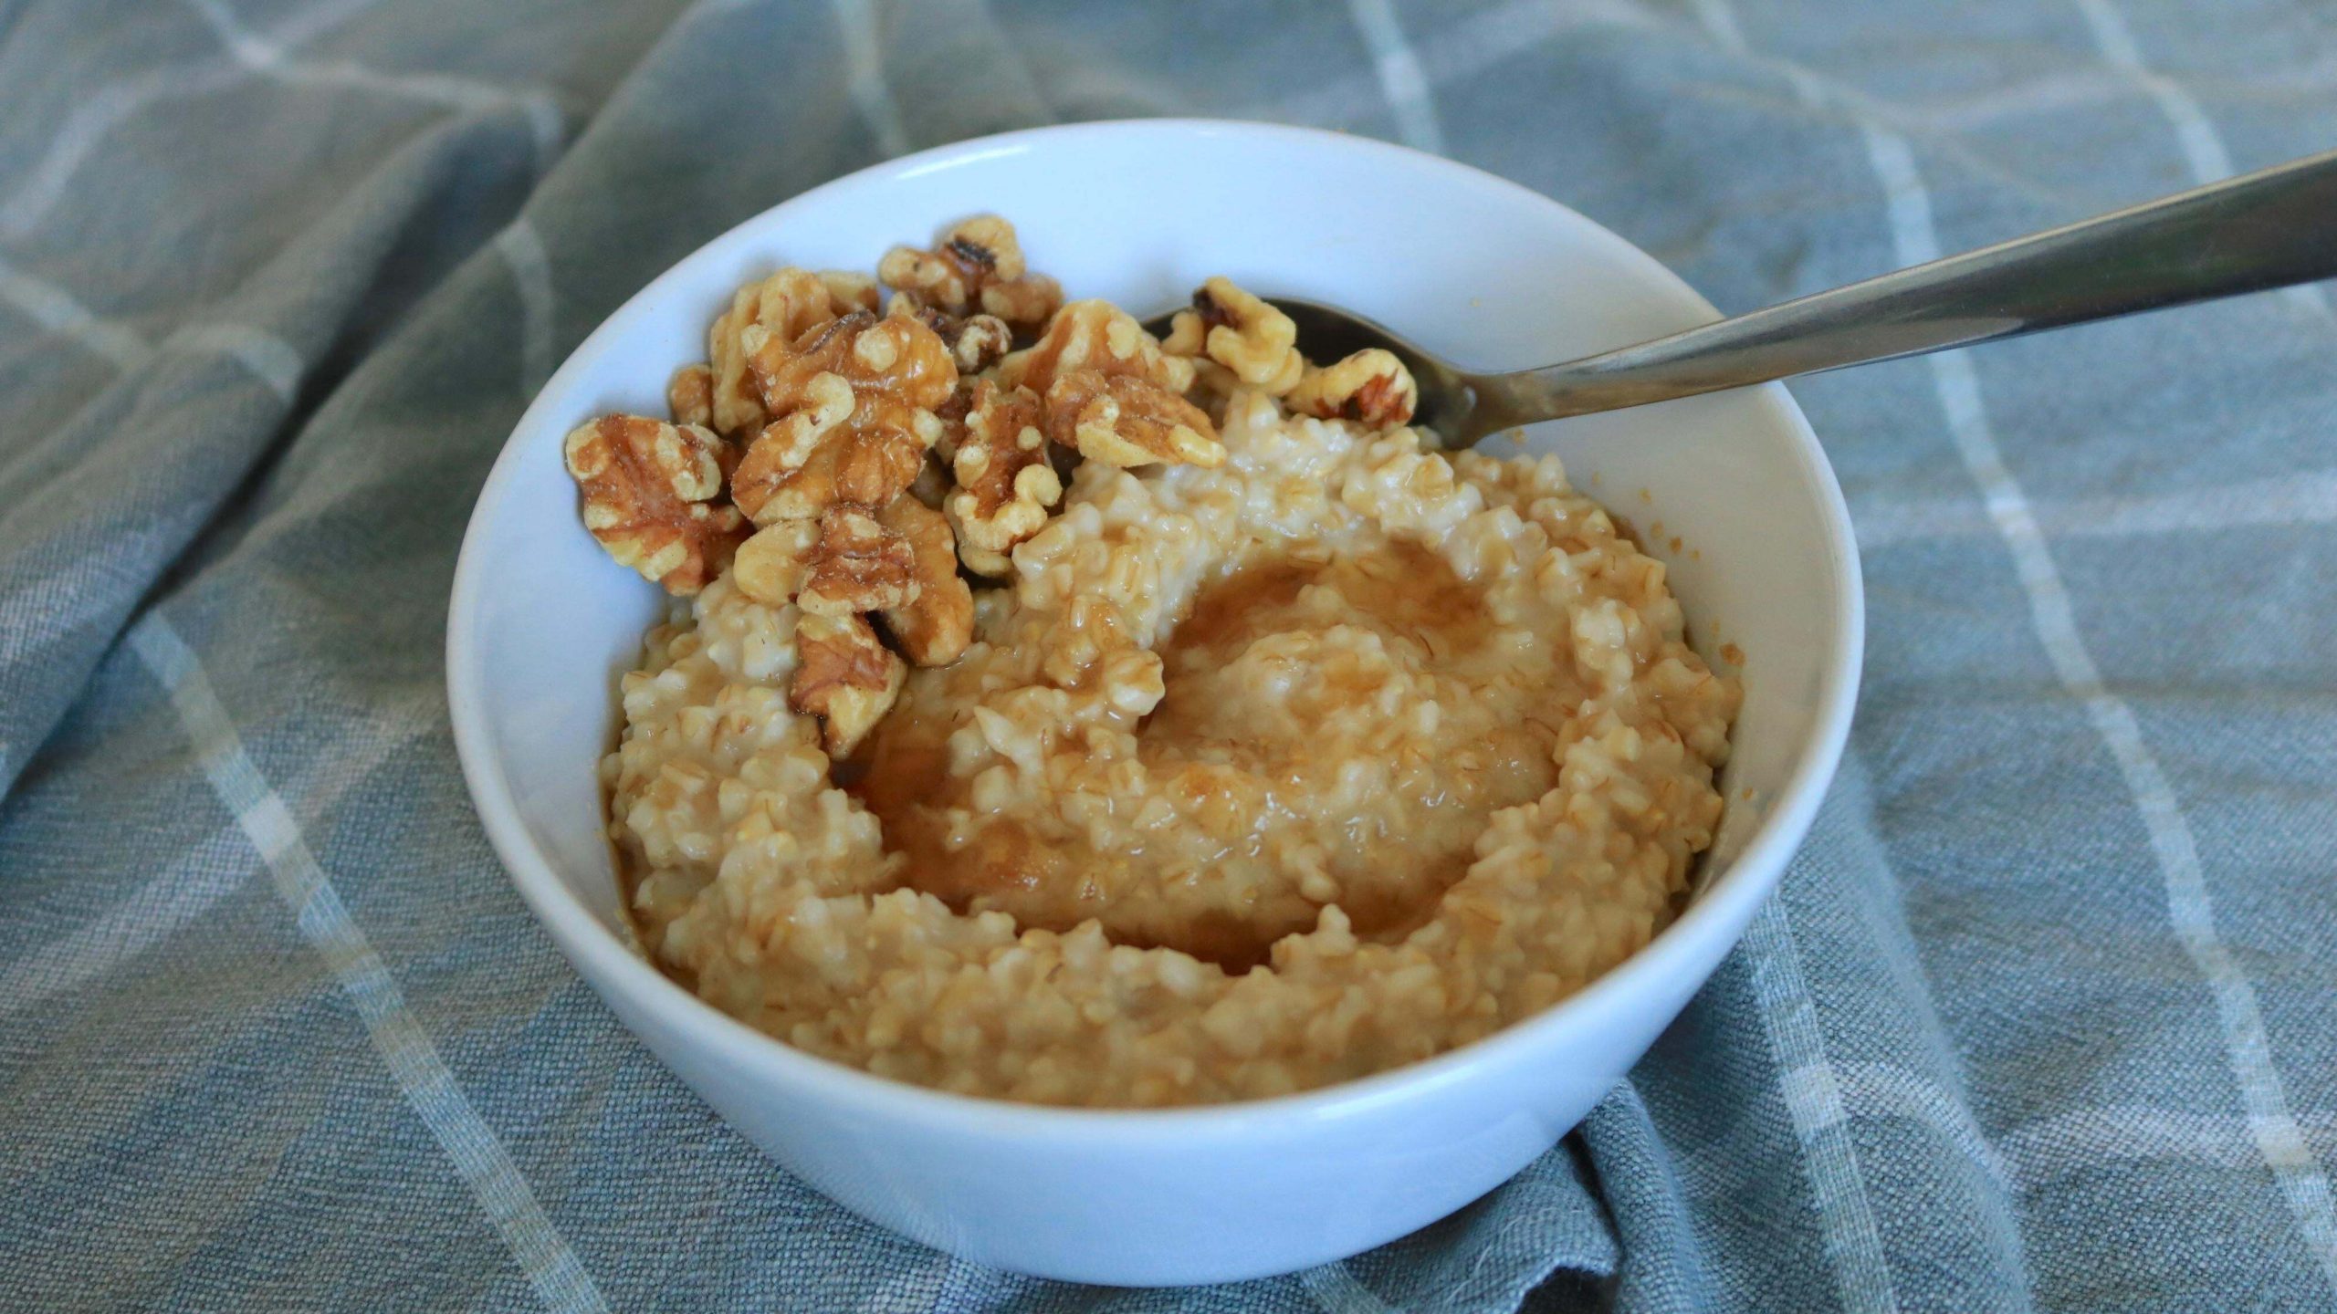
[[[203,776],[210,779],[210,788],[236,816],[236,825],[243,828],[259,860],[269,867],[276,893],[292,910],[301,938],[325,959],[348,994],[365,1022],[367,1038],[390,1069],[397,1092],[453,1160],[456,1171],[512,1249],[538,1300],[563,1314],[605,1312],[608,1302],[601,1300],[591,1274],[552,1227],[535,1192],[519,1174],[519,1164],[512,1162],[509,1150],[456,1085],[446,1059],[439,1057],[437,1045],[407,1008],[388,966],[374,954],[365,931],[351,921],[332,877],[308,851],[292,809],[243,751],[243,739],[213,692],[201,662],[159,610],[131,627],[129,641],[145,669],[168,692]]]

